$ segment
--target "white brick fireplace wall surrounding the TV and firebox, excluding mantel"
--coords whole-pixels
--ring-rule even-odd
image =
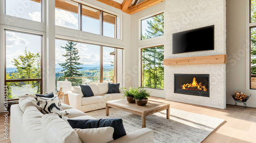
[[[172,54],[172,34],[206,26],[215,26],[215,50]],[[164,58],[226,54],[225,0],[166,0]],[[210,97],[174,93],[174,74],[209,74]],[[166,99],[178,102],[226,108],[226,65],[168,65],[164,69]]]

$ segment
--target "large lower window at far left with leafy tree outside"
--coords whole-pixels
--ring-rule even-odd
[[[42,36],[5,30],[5,85],[8,99],[42,93]]]

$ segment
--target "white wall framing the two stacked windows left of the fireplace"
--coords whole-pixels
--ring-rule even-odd
[[[131,26],[131,37],[132,37],[132,45],[131,45],[131,70],[126,70],[125,73],[129,75],[125,80],[131,82],[132,87],[141,86],[141,56],[140,50],[144,47],[152,47],[158,45],[165,44],[165,36],[159,36],[156,38],[150,38],[145,40],[140,40],[140,20],[154,16],[156,14],[162,13],[165,10],[165,2],[159,3],[153,7],[147,8],[140,12],[137,12],[132,15],[132,26]],[[129,87],[129,86],[126,86]],[[147,89],[152,92],[152,96],[165,98],[165,90],[162,89]]]

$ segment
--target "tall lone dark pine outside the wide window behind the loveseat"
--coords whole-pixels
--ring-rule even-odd
[[[77,43],[69,42],[66,46],[61,46],[66,50],[66,54],[62,55],[66,58],[65,63],[59,63],[59,65],[63,68],[61,71],[64,71],[64,77],[80,77],[82,74],[78,71],[82,67],[78,67],[82,65],[82,63],[78,62],[80,57],[78,55],[78,49],[75,47]],[[81,83],[81,79],[71,78],[72,86]]]

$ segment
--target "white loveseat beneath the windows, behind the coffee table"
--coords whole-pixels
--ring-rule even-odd
[[[70,106],[83,112],[93,111],[105,108],[106,101],[117,100],[122,98],[122,89],[120,93],[107,93],[109,90],[108,83],[90,84],[94,93],[93,97],[83,97],[81,88],[79,86],[73,87],[69,94]]]

